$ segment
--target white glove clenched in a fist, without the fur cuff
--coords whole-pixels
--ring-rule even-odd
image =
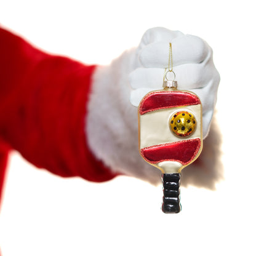
[[[146,31],[138,47],[142,64],[129,75],[130,86],[135,89],[130,102],[138,106],[151,90],[162,89],[164,69],[168,68],[169,42],[172,42],[172,60],[178,89],[190,90],[202,102],[202,132],[206,138],[217,100],[220,76],[212,60],[212,49],[197,36],[153,28]]]

